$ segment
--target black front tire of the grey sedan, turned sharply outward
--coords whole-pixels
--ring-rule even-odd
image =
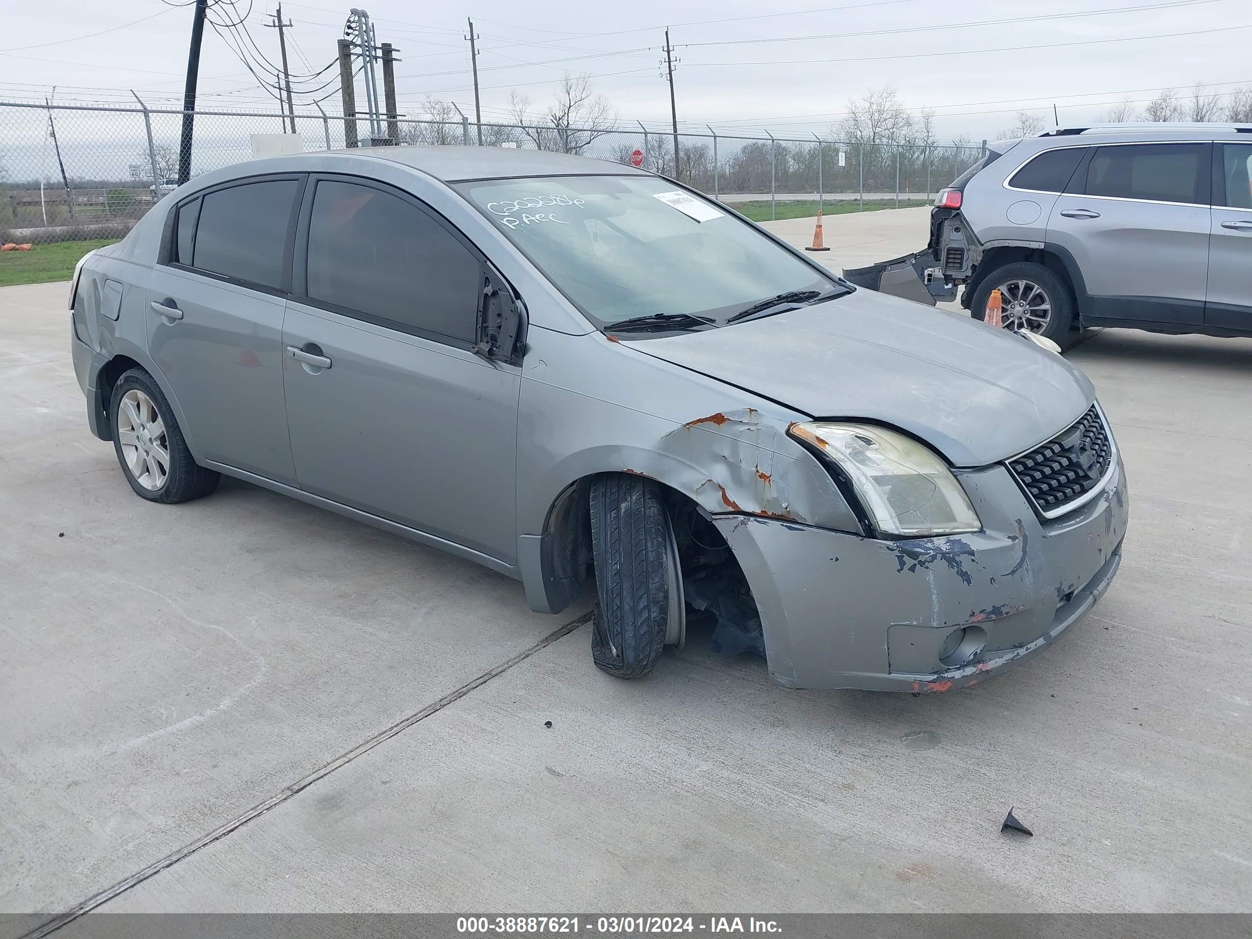
[[[601,671],[637,679],[661,657],[670,616],[670,558],[677,556],[670,550],[672,538],[657,483],[618,475],[591,483],[598,592],[591,656]]]

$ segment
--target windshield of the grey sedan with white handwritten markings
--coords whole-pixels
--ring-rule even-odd
[[[456,188],[601,328],[644,317],[662,321],[662,331],[712,328],[784,294],[813,302],[848,292],[750,223],[664,179],[551,177]]]

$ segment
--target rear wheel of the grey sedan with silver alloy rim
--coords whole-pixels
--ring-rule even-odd
[[[109,402],[113,448],[135,495],[149,502],[187,502],[207,496],[220,476],[192,458],[169,402],[141,368],[125,372]]]

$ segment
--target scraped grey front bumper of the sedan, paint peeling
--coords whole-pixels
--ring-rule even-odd
[[[1055,641],[1108,588],[1129,512],[1099,495],[1039,518],[1003,466],[958,471],[984,528],[878,541],[719,516],[756,600],[770,677],[796,689],[947,691]]]

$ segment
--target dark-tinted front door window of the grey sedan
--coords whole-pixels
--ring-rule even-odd
[[[309,218],[310,299],[382,326],[473,342],[481,293],[478,259],[412,203],[353,183],[317,184]]]

